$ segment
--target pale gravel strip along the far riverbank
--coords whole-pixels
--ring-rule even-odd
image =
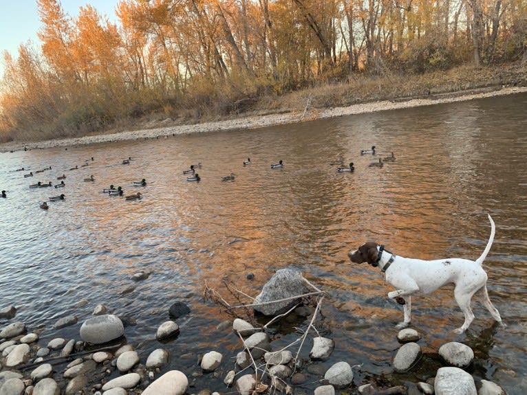
[[[124,131],[120,133],[76,137],[69,139],[52,139],[43,142],[10,142],[0,145],[0,152],[17,151],[36,148],[52,148],[77,146],[85,144],[94,144],[102,142],[116,142],[120,140],[133,140],[141,138],[163,137],[168,135],[181,135],[186,133],[202,133],[213,131],[228,131],[235,129],[256,129],[265,126],[275,126],[281,124],[290,124],[293,122],[303,122],[307,120],[316,120],[330,117],[339,117],[342,115],[353,115],[361,113],[373,113],[376,111],[387,111],[395,109],[406,109],[417,106],[429,106],[432,104],[461,102],[465,100],[474,100],[480,98],[490,98],[499,95],[510,95],[513,93],[527,92],[527,87],[507,87],[495,91],[484,91],[480,93],[466,93],[434,98],[418,98],[400,102],[380,101],[363,104],[354,104],[347,107],[337,107],[333,109],[307,109],[307,111],[259,115],[251,117],[241,117],[233,120],[224,120],[218,122],[204,122],[202,124],[166,126],[162,128],[151,128],[140,131]]]

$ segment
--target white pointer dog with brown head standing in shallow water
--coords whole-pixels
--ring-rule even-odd
[[[374,267],[380,267],[386,275],[386,281],[396,288],[388,293],[388,297],[404,305],[405,321],[398,324],[398,328],[405,328],[410,324],[411,295],[431,293],[445,284],[454,284],[454,297],[460,306],[465,321],[456,329],[462,333],[469,328],[474,319],[471,309],[471,298],[479,293],[482,302],[493,318],[502,322],[499,312],[488,298],[486,289],[487,275],[483,270],[483,261],[490,251],[495,234],[495,225],[491,216],[491,237],[488,239],[485,250],[477,260],[462,258],[449,258],[438,260],[420,260],[403,258],[384,249],[383,245],[376,242],[367,242],[356,251],[347,254],[354,263],[368,262]]]

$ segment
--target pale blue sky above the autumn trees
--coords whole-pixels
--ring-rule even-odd
[[[69,16],[78,16],[78,9],[92,5],[101,15],[107,15],[110,21],[116,21],[115,8],[118,0],[60,0],[63,10]],[[36,33],[41,27],[36,0],[0,0],[0,54],[4,50],[16,57],[21,43],[31,40],[39,46]],[[3,75],[3,57],[0,57],[0,76]]]

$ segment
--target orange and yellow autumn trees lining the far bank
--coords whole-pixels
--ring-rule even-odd
[[[122,0],[116,23],[91,5],[72,18],[36,3],[39,47],[3,54],[4,141],[527,56],[527,0]]]

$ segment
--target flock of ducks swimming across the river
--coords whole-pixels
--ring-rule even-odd
[[[372,148],[369,148],[369,149],[366,149],[366,150],[361,150],[360,151],[360,154],[361,156],[363,155],[378,155],[378,151],[376,150],[376,146],[372,146]],[[382,168],[385,163],[387,162],[394,162],[396,160],[396,157],[394,155],[394,153],[392,152],[390,156],[385,156],[385,157],[378,157],[378,161],[373,161],[371,163],[369,163],[369,167],[372,167],[372,168]],[[83,165],[80,166],[80,168],[84,168],[86,166],[89,166],[89,164],[94,161],[94,158],[92,157],[91,159],[87,159],[85,160],[85,163]],[[130,164],[130,162],[132,161],[131,157],[128,157],[127,159],[123,159],[122,160],[122,164],[123,165],[128,165]],[[246,161],[243,161],[243,166],[249,166],[251,164],[251,160],[250,158],[247,158]],[[355,167],[354,167],[354,163],[353,162],[349,162],[348,166],[345,165],[345,159],[343,156],[339,157],[338,159],[334,160],[334,161],[330,161],[330,165],[331,166],[337,166],[336,167],[336,171],[337,172],[354,172],[355,171]],[[270,168],[272,169],[281,169],[284,167],[284,162],[283,162],[283,159],[280,159],[279,161],[275,162],[275,163],[271,163],[270,165]],[[186,181],[195,181],[195,182],[199,182],[201,181],[201,177],[200,177],[200,174],[198,174],[197,172],[197,169],[201,169],[202,168],[202,163],[201,162],[198,162],[197,165],[194,165],[192,164],[191,166],[189,166],[188,169],[186,170],[183,170],[182,171],[182,174],[184,174],[186,176]],[[78,170],[79,169],[79,166],[75,166],[74,168],[69,168],[69,171],[74,171],[74,170]],[[24,171],[25,168],[19,168],[15,171]],[[43,172],[46,172],[48,170],[52,170],[52,167],[49,166],[47,168],[43,168],[41,170],[35,170],[35,172],[28,172],[26,174],[23,174],[23,177],[24,178],[28,178],[28,177],[34,177],[36,174],[40,174],[40,173],[43,173]],[[224,177],[221,177],[221,181],[234,181],[235,180],[235,173],[234,172],[231,172],[229,175],[226,175]],[[58,175],[58,177],[56,177],[56,179],[58,181],[61,181],[60,183],[52,183],[52,181],[47,181],[47,182],[42,182],[42,181],[37,181],[36,183],[32,183],[29,185],[29,188],[51,188],[51,187],[54,187],[54,188],[65,188],[66,186],[66,183],[65,183],[65,179],[66,179],[66,174],[65,173],[62,173],[60,175]],[[95,181],[95,177],[94,175],[92,174],[90,177],[87,177],[85,179],[83,179],[84,182],[87,182],[87,183],[90,183],[90,182],[94,182]],[[133,185],[134,187],[145,187],[147,186],[147,180],[146,179],[141,179],[140,181],[133,181],[131,183],[131,185]],[[115,188],[115,186],[112,184],[112,185],[109,185],[109,188],[104,188],[103,193],[105,194],[109,194],[110,196],[124,196],[125,197],[125,200],[127,201],[135,201],[135,200],[139,200],[139,199],[142,199],[143,195],[141,192],[136,192],[136,193],[133,193],[133,194],[129,194],[129,195],[125,195],[124,194],[124,190],[122,189],[121,186],[118,186],[117,188]],[[1,192],[1,197],[2,198],[6,198],[7,197],[7,194],[8,192],[6,192],[6,190],[2,190]],[[65,194],[58,194],[58,195],[55,195],[55,196],[50,196],[48,199],[50,202],[54,202],[54,201],[63,201],[65,200]],[[43,210],[47,210],[49,209],[49,205],[47,204],[47,201],[43,201],[41,203],[39,203],[41,209]]]

